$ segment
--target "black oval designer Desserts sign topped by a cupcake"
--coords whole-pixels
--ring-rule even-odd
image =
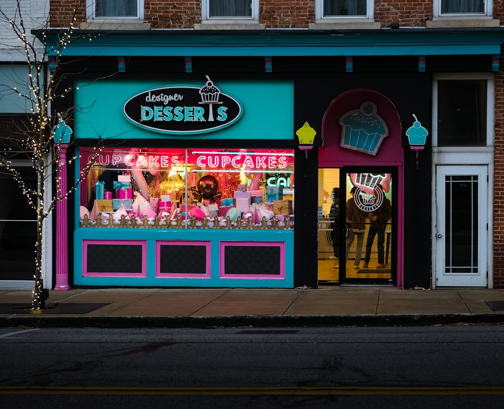
[[[154,132],[196,134],[225,128],[240,118],[243,108],[206,77],[203,87],[174,85],[136,94],[124,103],[123,114]]]

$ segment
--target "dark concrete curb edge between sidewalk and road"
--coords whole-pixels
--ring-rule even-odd
[[[1,328],[232,328],[316,326],[429,326],[504,324],[500,314],[404,315],[246,315],[246,316],[13,316],[0,317]]]

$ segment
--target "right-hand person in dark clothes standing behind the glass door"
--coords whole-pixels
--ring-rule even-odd
[[[366,255],[362,266],[364,268],[369,266],[371,247],[373,245],[374,236],[377,236],[376,246],[378,251],[378,264],[376,265],[376,268],[385,268],[385,228],[387,227],[387,222],[392,217],[392,206],[390,200],[385,196],[382,185],[375,185],[374,197],[376,200],[383,198],[383,201],[379,208],[368,214],[369,231],[367,232]]]

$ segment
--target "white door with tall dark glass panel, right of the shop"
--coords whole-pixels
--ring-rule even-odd
[[[436,166],[436,287],[487,287],[487,166]]]

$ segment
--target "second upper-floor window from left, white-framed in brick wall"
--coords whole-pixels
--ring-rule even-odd
[[[257,23],[259,0],[202,0],[203,23]]]

